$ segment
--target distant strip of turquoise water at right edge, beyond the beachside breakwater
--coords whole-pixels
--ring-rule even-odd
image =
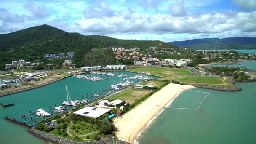
[[[237,64],[214,64],[205,67],[247,67],[247,69],[256,70],[256,61],[239,61]]]

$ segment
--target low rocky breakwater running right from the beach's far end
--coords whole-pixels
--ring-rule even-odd
[[[225,87],[225,86],[218,86],[218,85],[203,85],[203,84],[195,84],[195,83],[187,83],[187,85],[192,85],[197,88],[208,88],[208,89],[213,89],[218,91],[241,91],[242,90],[242,88],[239,88],[237,86]]]

